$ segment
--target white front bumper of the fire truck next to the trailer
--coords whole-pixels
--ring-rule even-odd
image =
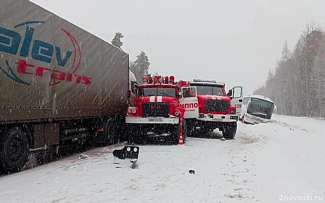
[[[139,123],[139,124],[178,124],[179,118],[159,118],[159,117],[125,117],[126,123]]]

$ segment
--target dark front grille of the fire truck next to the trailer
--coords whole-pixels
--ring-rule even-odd
[[[142,103],[142,117],[169,117],[169,103]]]

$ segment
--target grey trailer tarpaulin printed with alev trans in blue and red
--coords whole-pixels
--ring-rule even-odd
[[[125,112],[127,53],[29,1],[0,7],[0,122]]]

